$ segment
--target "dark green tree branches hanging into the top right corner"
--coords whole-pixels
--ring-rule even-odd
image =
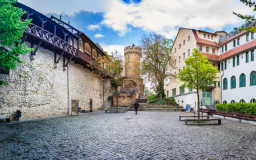
[[[251,0],[240,0],[241,2],[245,3],[248,7],[254,7],[253,11],[256,11],[256,3]],[[236,13],[233,11],[233,14],[237,15],[237,17],[240,17],[241,19],[245,19],[246,23],[250,23],[251,21],[256,21],[254,15],[241,15],[240,13]],[[256,31],[256,26],[249,26],[239,29],[241,31]]]

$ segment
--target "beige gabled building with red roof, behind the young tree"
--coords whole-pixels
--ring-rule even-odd
[[[224,31],[209,33],[195,29],[180,28],[171,51],[171,55],[175,59],[175,69],[171,70],[171,74],[177,75],[185,68],[185,59],[191,56],[194,48],[199,49],[203,55],[207,56],[213,66],[219,68],[219,46],[217,41],[219,36],[225,34]],[[220,73],[218,73],[219,76]],[[181,87],[181,85],[182,83],[179,79],[171,79],[170,83],[165,85],[165,94],[168,97],[174,97],[176,102],[183,107],[186,107],[186,105],[194,107],[195,102],[197,102],[197,91]],[[203,105],[211,105],[221,101],[220,87],[220,79],[217,79],[216,84],[211,84],[207,89],[200,91],[200,101]]]

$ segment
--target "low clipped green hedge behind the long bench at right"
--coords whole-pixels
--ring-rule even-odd
[[[256,103],[229,103],[218,104],[216,109],[219,111],[229,111],[235,113],[246,113],[249,115],[256,115]]]

